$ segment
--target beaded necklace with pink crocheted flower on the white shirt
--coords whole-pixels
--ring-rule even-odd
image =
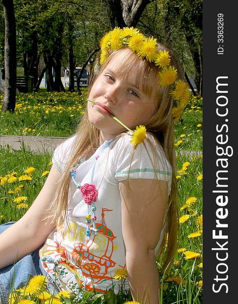
[[[107,148],[110,145],[110,143],[111,143],[111,140],[106,141],[103,145],[104,149]],[[98,189],[93,184],[94,171],[95,171],[95,166],[96,166],[98,158],[99,158],[99,155],[95,156],[95,162],[94,162],[94,165],[92,168],[92,175],[91,175],[91,181],[90,181],[91,183],[85,183],[82,185],[81,183],[78,183],[75,180],[77,168],[78,168],[78,166],[80,166],[81,163],[77,163],[70,170],[72,181],[75,184],[76,188],[80,189],[83,200],[88,206],[87,214],[85,216],[86,240],[90,239],[90,231],[92,231],[93,235],[98,234],[98,230],[96,229],[97,207],[95,206],[95,203],[96,203],[97,197],[98,197]],[[90,225],[93,225],[93,226],[90,226]]]

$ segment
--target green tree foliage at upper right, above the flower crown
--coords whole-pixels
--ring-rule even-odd
[[[189,78],[202,78],[202,0],[151,2],[138,23],[142,31],[170,45]],[[200,88],[198,88],[200,89]]]

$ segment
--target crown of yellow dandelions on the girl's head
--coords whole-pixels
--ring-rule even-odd
[[[161,68],[158,72],[158,84],[171,86],[170,95],[174,100],[172,115],[174,121],[178,121],[189,102],[190,92],[184,81],[177,80],[177,70],[171,65],[169,52],[158,50],[157,41],[153,36],[146,37],[134,27],[115,27],[107,32],[100,41],[100,64],[102,65],[105,62],[111,51],[120,50],[124,47],[134,51],[140,59],[148,60]]]

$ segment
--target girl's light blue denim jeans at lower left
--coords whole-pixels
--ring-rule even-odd
[[[14,222],[0,225],[0,234]],[[0,269],[0,303],[8,303],[8,295],[12,290],[23,287],[35,275],[42,275],[39,269],[39,249],[27,254],[18,262]]]

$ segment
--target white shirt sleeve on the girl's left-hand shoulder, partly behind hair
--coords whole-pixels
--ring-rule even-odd
[[[58,145],[54,151],[52,162],[61,173],[63,173],[64,167],[71,153],[74,138],[75,136],[66,139],[63,143]]]

